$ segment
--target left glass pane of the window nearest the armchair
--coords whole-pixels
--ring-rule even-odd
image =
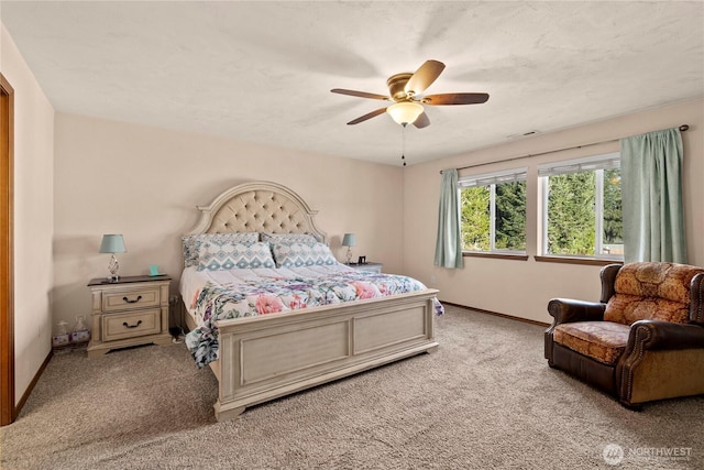
[[[548,253],[593,256],[594,172],[550,176],[548,187]]]

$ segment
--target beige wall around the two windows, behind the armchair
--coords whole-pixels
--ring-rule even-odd
[[[569,160],[618,150],[618,143],[563,151],[515,162],[468,168],[460,175],[528,166],[528,261],[465,258],[462,270],[433,266],[440,174],[443,168],[495,162],[592,142],[605,142],[648,131],[689,124],[684,144],[684,199],[689,262],[704,265],[704,100],[650,109],[631,116],[572,128],[552,134],[414,165],[404,175],[404,269],[440,289],[440,299],[538,321],[551,321],[546,311],[552,297],[597,300],[598,266],[539,263],[536,228],[538,163]],[[435,278],[435,282],[432,281]]]

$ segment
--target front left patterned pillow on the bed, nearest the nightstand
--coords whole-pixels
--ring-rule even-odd
[[[198,245],[198,271],[274,267],[268,243],[217,243],[201,241]]]

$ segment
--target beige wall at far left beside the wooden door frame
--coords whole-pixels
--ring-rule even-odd
[[[0,28],[0,70],[14,89],[15,401],[51,351],[54,108]]]

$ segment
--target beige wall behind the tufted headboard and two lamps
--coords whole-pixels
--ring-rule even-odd
[[[86,284],[108,274],[102,233],[123,233],[120,274],[150,264],[178,277],[180,236],[196,205],[248,181],[272,181],[298,193],[343,261],[345,232],[354,255],[402,269],[403,170],[227,139],[57,113],[54,196],[54,323],[90,313]],[[176,293],[177,282],[172,285]]]

